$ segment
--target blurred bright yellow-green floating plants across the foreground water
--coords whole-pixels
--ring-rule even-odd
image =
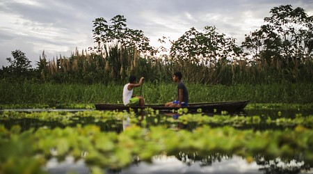
[[[120,134],[100,132],[95,125],[25,132],[20,132],[18,126],[10,130],[0,126],[0,134],[2,173],[38,173],[47,159],[57,157],[63,160],[67,155],[83,158],[91,171],[129,166],[133,157],[150,161],[154,155],[176,155],[178,152],[195,152],[202,158],[211,153],[230,153],[244,157],[248,162],[257,157],[266,160],[280,157],[283,161],[290,161],[301,156],[300,160],[305,163],[313,163],[312,129],[301,126],[264,132],[207,126],[194,132],[173,132],[157,126],[150,127],[147,132],[131,126]]]

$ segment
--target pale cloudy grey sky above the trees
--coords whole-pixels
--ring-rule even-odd
[[[129,29],[142,30],[150,45],[166,36],[177,40],[195,27],[216,26],[236,38],[259,29],[273,7],[291,4],[313,15],[313,0],[0,0],[0,68],[11,52],[21,50],[35,67],[45,51],[48,60],[96,46],[93,20],[109,22],[124,15]],[[169,47],[169,45],[164,45]]]

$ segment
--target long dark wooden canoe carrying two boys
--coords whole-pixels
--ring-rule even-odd
[[[188,111],[202,111],[202,112],[219,112],[219,111],[228,111],[228,112],[236,112],[242,111],[249,100],[237,101],[237,102],[206,102],[206,103],[191,103],[188,106],[183,106],[182,108],[187,108]],[[166,107],[164,104],[146,104],[144,107],[141,106],[125,106],[123,104],[104,104],[98,103],[95,104],[95,108],[97,110],[118,110],[124,111],[134,109],[137,111],[138,109],[151,108],[159,111],[172,111],[172,109],[178,109],[177,107]]]

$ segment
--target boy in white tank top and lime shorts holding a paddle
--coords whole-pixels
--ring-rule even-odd
[[[134,96],[133,91],[134,88],[138,88],[143,84],[144,77],[141,77],[138,84],[136,83],[136,77],[130,76],[129,77],[129,83],[125,84],[123,88],[123,103],[124,105],[139,105],[139,106],[145,106],[145,100],[143,100],[142,96]]]

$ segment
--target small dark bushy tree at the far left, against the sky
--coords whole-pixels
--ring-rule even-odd
[[[29,61],[29,58],[26,57],[25,53],[16,49],[11,52],[11,54],[13,58],[6,58],[8,63],[10,63],[8,71],[15,75],[21,75],[24,72],[28,72],[31,68],[31,61]]]

